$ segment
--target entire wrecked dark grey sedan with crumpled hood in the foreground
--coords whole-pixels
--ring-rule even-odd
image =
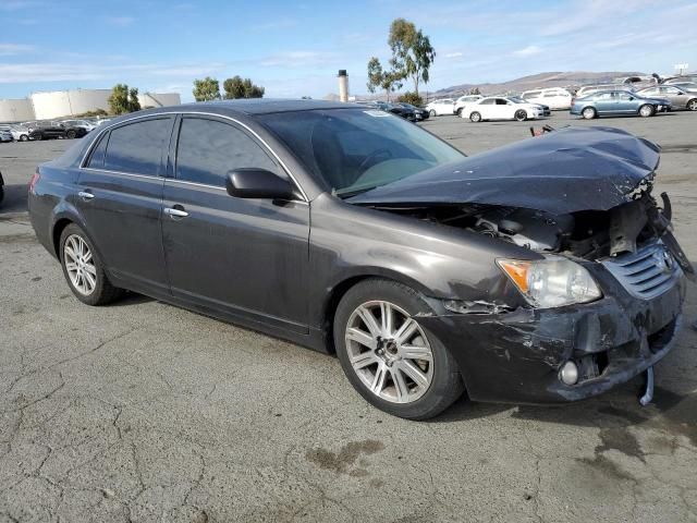
[[[237,100],[105,124],[38,167],[28,208],[80,301],[130,289],[335,352],[421,419],[464,390],[585,399],[670,351],[694,275],[658,163],[609,127],[467,158],[365,106]]]

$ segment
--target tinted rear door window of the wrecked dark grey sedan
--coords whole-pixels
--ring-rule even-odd
[[[169,144],[171,123],[168,117],[113,129],[105,155],[105,169],[157,177],[162,153]]]

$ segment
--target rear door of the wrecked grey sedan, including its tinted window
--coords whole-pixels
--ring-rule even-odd
[[[162,251],[164,163],[174,117],[125,122],[100,136],[76,198],[109,271],[140,292],[169,293]]]

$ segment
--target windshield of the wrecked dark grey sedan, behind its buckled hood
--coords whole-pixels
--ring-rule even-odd
[[[279,112],[259,120],[340,197],[465,156],[402,118],[378,110]]]

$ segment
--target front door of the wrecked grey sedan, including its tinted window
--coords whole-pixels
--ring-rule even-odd
[[[237,168],[289,178],[244,126],[195,114],[176,126],[162,220],[172,293],[233,317],[307,332],[309,205],[228,194],[225,174]]]

